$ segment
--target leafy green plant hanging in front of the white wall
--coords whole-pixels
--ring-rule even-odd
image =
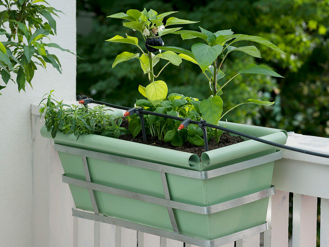
[[[46,47],[70,51],[58,44],[43,42],[46,38],[50,40],[50,35],[56,35],[53,16],[58,16],[56,12],[61,11],[50,7],[45,0],[0,0],[0,6],[5,9],[0,12],[0,37],[7,39],[0,42],[0,73],[3,83],[7,85],[11,80],[17,83],[18,91],[25,91],[26,83],[32,87],[31,81],[37,65],[46,68],[47,63],[62,73],[59,59],[50,54]],[[12,77],[13,73],[16,78]],[[3,83],[0,90],[6,87]]]

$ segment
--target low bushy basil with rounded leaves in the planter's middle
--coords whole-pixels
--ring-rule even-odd
[[[196,121],[202,119],[199,110],[200,101],[178,93],[169,94],[166,99],[155,106],[145,99],[137,100],[135,105],[147,111],[181,116]],[[147,134],[157,136],[159,140],[171,142],[173,146],[182,146],[185,141],[198,146],[204,145],[202,130],[196,124],[190,124],[187,128],[178,131],[181,122],[177,120],[154,115],[145,115],[144,120]],[[141,131],[140,118],[137,114],[129,116],[129,131],[133,134],[133,137],[136,137]],[[209,138],[211,138],[213,132],[210,128],[207,128],[207,132]]]

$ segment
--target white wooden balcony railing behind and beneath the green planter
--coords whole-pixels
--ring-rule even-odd
[[[52,140],[40,136],[38,107],[32,106],[33,246],[49,247],[193,247],[190,244],[72,216],[69,188]],[[287,145],[329,154],[329,138],[291,134]],[[317,198],[320,247],[329,247],[329,159],[282,150],[275,161],[264,247],[316,247]],[[289,192],[293,192],[292,238],[288,239]],[[260,234],[225,247],[259,247]],[[263,241],[262,241],[263,242]],[[262,245],[263,246],[263,245]]]

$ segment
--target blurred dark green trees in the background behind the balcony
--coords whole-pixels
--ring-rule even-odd
[[[285,78],[265,75],[240,75],[226,86],[224,109],[248,99],[275,101],[270,107],[244,105],[227,114],[228,121],[283,128],[304,135],[329,136],[329,0],[216,0],[216,1],[106,1],[77,0],[77,93],[114,104],[133,106],[141,99],[138,85],[148,79],[131,60],[112,69],[116,55],[129,44],[105,42],[115,35],[137,35],[122,26],[122,20],[106,18],[127,9],[179,11],[177,18],[200,20],[200,26],[212,32],[232,29],[234,33],[265,37],[288,55],[256,45],[262,59],[242,52],[232,53],[223,70],[231,78],[247,64],[264,64]],[[197,24],[184,25],[184,30],[198,30]],[[164,36],[165,46],[190,49],[193,40],[177,35]],[[243,45],[251,45],[240,41]],[[244,42],[244,43],[243,43]],[[143,44],[139,44],[143,46]],[[159,62],[159,65],[163,66]],[[183,61],[177,67],[169,64],[160,80],[168,85],[168,93],[177,92],[205,99],[208,82],[201,69]],[[225,80],[223,80],[225,81]],[[228,93],[230,92],[230,93]]]

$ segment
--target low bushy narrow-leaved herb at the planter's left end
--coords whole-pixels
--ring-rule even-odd
[[[39,106],[40,118],[44,113],[45,125],[48,131],[51,131],[51,136],[55,138],[57,131],[66,133],[72,133],[77,136],[86,134],[95,134],[101,136],[109,136],[113,138],[119,138],[119,136],[127,133],[127,130],[120,127],[122,118],[115,118],[113,114],[109,114],[108,111],[112,111],[108,107],[103,105],[95,106],[94,108],[66,105],[62,101],[54,99],[50,93],[43,95]],[[45,101],[46,103],[42,103]]]

